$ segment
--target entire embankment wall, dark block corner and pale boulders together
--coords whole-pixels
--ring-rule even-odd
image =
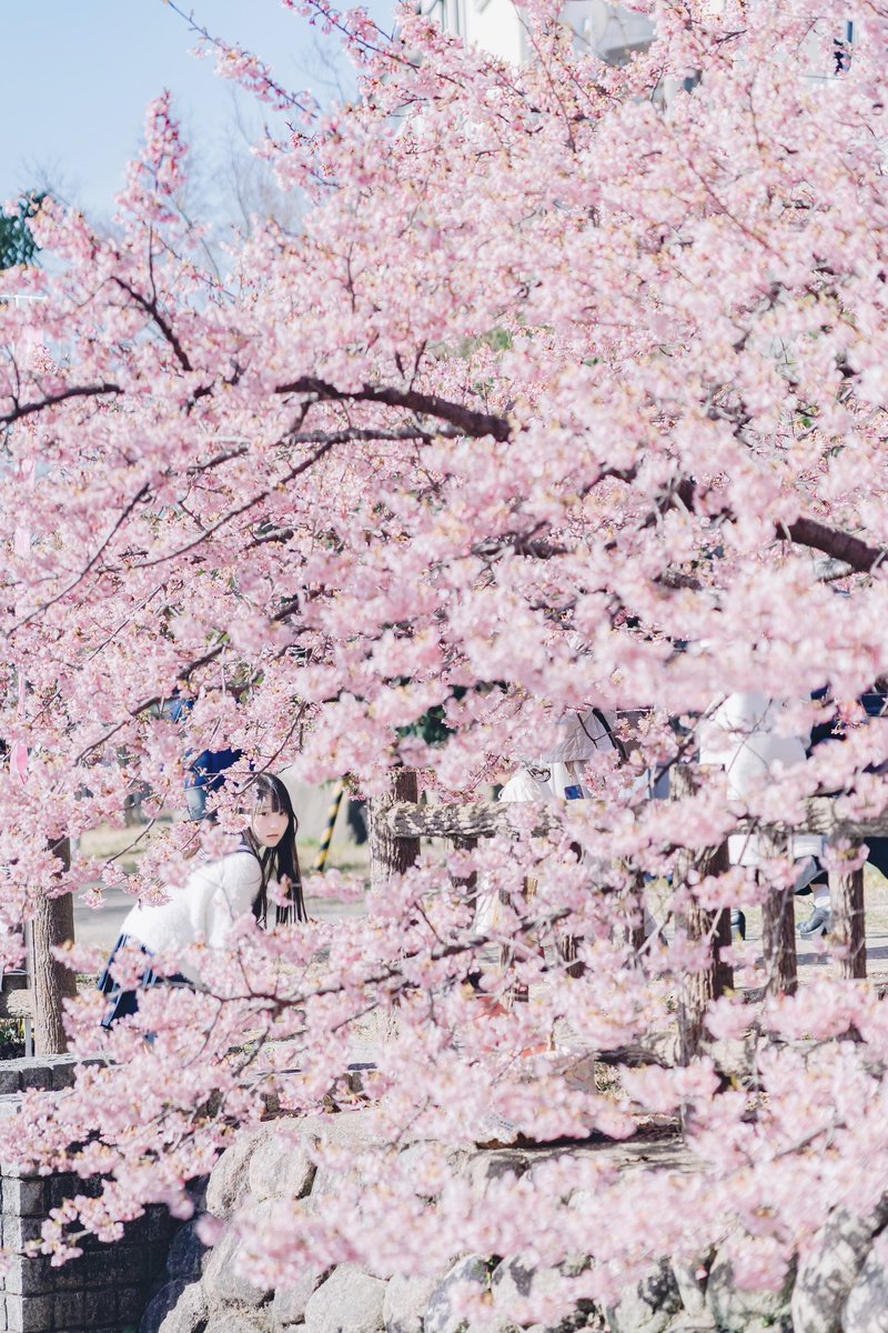
[[[72,1080],[68,1057],[5,1061],[0,1116],[16,1113],[27,1088],[63,1089]],[[91,1240],[83,1257],[63,1268],[41,1256],[15,1257],[0,1281],[0,1333],[474,1333],[457,1305],[466,1290],[483,1304],[483,1333],[888,1333],[888,1194],[868,1216],[836,1212],[781,1292],[738,1289],[731,1264],[738,1238],[728,1237],[722,1249],[691,1264],[663,1257],[611,1306],[580,1301],[556,1329],[523,1320],[522,1301],[582,1272],[582,1254],[560,1269],[522,1256],[459,1254],[431,1277],[341,1264],[306,1268],[288,1288],[253,1286],[240,1272],[241,1241],[232,1218],[252,1217],[261,1228],[262,1214],[288,1198],[324,1208],[325,1194],[342,1188],[342,1180],[316,1168],[318,1138],[371,1144],[373,1117],[354,1112],[242,1130],[206,1182],[206,1212],[224,1224],[213,1249],[201,1244],[196,1222],[181,1226],[153,1208],[126,1228],[122,1241]],[[451,1166],[471,1197],[483,1198],[493,1180],[533,1176],[541,1161],[564,1152],[607,1152],[619,1157],[620,1170],[687,1165],[679,1141],[630,1140],[608,1148],[478,1149],[454,1154]],[[49,1210],[76,1192],[84,1192],[76,1177],[24,1176],[0,1164],[4,1249],[36,1240]],[[594,1208],[595,1201],[574,1194],[567,1206]]]

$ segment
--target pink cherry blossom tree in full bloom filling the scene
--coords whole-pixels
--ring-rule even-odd
[[[567,710],[646,709],[630,761],[590,765],[594,798],[545,836],[519,810],[511,833],[374,886],[366,916],[245,921],[229,958],[202,960],[205,992],[153,990],[108,1038],[100,996],[72,1005],[75,1049],[104,1062],[0,1132],[4,1157],[104,1182],[47,1230],[60,1256],[148,1201],[186,1212],[185,1181],[270,1096],[322,1108],[373,1010],[391,1014],[379,1138],[422,1138],[425,1157],[362,1162],[359,1208],[277,1218],[256,1237],[266,1274],[306,1254],[421,1270],[466,1249],[582,1250],[595,1262],[568,1306],[739,1228],[739,1280],[776,1282],[832,1206],[883,1192],[888,1028],[865,988],[718,1000],[714,1037],[752,1026],[747,1085],[706,1052],[626,1068],[618,1092],[558,1068],[564,1032],[607,1053],[670,1029],[704,961],[671,925],[690,900],[760,900],[791,870],[777,852],[758,882],[675,873],[670,944],[639,948],[646,876],[742,817],[799,822],[817,790],[877,813],[888,754],[879,728],[849,725],[743,810],[715,778],[680,802],[640,781],[692,756],[732,690],[788,700],[803,728],[825,706],[812,690],[848,702],[888,673],[888,11],[861,0],[836,73],[847,13],[829,0],[638,8],[656,40],[610,68],[534,3],[534,59],[514,69],[409,11],[387,39],[317,4],[361,72],[361,101],[325,115],[226,48],[225,72],[289,123],[257,151],[309,205],[224,280],[173,207],[188,155],[166,97],[112,236],[53,201],[35,223],[53,260],[23,285],[45,300],[0,311],[4,960],[41,894],[99,901],[122,881],[114,862],[59,877],[49,842],[116,816],[134,781],[153,816],[176,804],[189,748],[240,746],[241,785],[248,762],[288,762],[385,797],[409,769],[462,801],[545,750]],[[176,693],[193,700],[180,722]],[[431,709],[437,744],[417,726]],[[208,850],[237,828],[236,788]],[[172,882],[194,837],[166,828],[130,889]],[[473,870],[503,900],[486,937]],[[582,968],[559,961],[563,936]],[[491,1012],[522,988],[530,1002]],[[622,1138],[679,1110],[698,1172],[587,1158],[483,1210],[458,1182],[425,1208],[435,1153],[502,1121]],[[568,1188],[595,1209],[559,1212]]]

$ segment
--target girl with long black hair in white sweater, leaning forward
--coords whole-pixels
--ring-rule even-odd
[[[103,1028],[136,1013],[140,989],[157,985],[150,958],[158,953],[181,950],[193,944],[208,949],[225,949],[232,924],[253,912],[260,925],[268,924],[268,888],[278,881],[286,888],[286,902],[276,908],[278,925],[308,920],[302,898],[296,832],[298,822],[289,792],[280,777],[262,773],[250,788],[252,817],[241,844],[228,856],[197,866],[185,884],[170,886],[161,904],[137,902],[126,914],[121,934],[100,978],[99,989],[108,996]],[[138,988],[126,990],[112,976],[112,964],[124,948],[138,948],[146,966]],[[188,965],[172,984],[200,984],[200,976]]]

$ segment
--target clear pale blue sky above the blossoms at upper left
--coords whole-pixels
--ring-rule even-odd
[[[212,33],[254,51],[289,87],[332,100],[337,72],[350,80],[335,39],[278,0],[177,3]],[[0,201],[48,181],[88,213],[108,217],[138,149],[145,107],[164,88],[208,173],[238,139],[238,113],[248,131],[261,123],[250,99],[213,73],[212,60],[190,55],[197,39],[164,0],[25,0],[3,8]],[[390,25],[391,0],[367,8]]]

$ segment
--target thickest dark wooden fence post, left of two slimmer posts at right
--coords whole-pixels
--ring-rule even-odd
[[[692,794],[699,789],[700,781],[700,769],[688,764],[676,764],[670,774],[672,800]],[[676,877],[679,882],[680,880],[687,882],[691,869],[695,869],[700,876],[723,874],[728,869],[728,864],[727,842],[723,842],[718,848],[706,848],[694,856],[688,853],[682,858]],[[680,1061],[687,1065],[700,1052],[706,1012],[710,1004],[734,986],[734,970],[720,957],[720,949],[731,942],[731,913],[727,909],[710,912],[698,902],[691,892],[682,912],[680,924],[688,940],[708,938],[712,941],[708,966],[702,972],[690,973],[682,981],[679,1049]]]

